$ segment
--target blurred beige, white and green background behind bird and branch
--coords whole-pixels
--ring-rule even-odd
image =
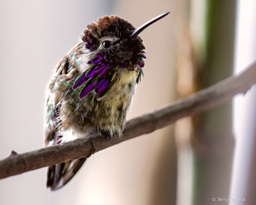
[[[44,90],[87,24],[119,15],[141,32],[144,78],[128,119],[239,73],[256,59],[256,1],[0,1],[0,159],[43,147]],[[256,89],[90,157],[67,186],[47,169],[0,181],[0,204],[221,204],[256,189]],[[213,202],[213,198],[216,201]]]

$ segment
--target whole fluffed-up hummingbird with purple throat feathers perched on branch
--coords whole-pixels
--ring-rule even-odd
[[[99,18],[83,31],[82,42],[59,63],[46,89],[46,147],[99,133],[121,136],[135,85],[143,76],[145,47],[141,31],[169,13],[137,29],[117,16]],[[87,158],[48,167],[47,187],[58,190]]]

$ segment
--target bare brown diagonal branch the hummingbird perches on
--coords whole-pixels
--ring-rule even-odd
[[[29,153],[17,154],[12,151],[8,158],[0,161],[0,179],[72,159],[88,158],[97,151],[143,134],[152,133],[182,117],[192,116],[225,103],[238,93],[246,93],[254,84],[256,84],[256,63],[250,65],[238,76],[228,77],[184,99],[129,120],[121,137],[113,136],[111,140],[104,140],[99,134],[92,134]]]

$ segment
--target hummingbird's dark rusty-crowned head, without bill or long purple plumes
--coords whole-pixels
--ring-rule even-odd
[[[91,62],[99,62],[107,67],[119,65],[128,71],[133,71],[137,64],[143,62],[145,47],[138,35],[131,36],[135,30],[131,23],[117,16],[103,17],[87,28],[82,40],[86,48],[96,52]]]

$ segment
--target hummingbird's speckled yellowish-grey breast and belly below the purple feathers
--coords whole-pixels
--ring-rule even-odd
[[[62,103],[62,129],[75,129],[78,132],[108,131],[111,135],[121,134],[129,105],[136,85],[135,72],[128,80],[120,77],[115,85],[100,99],[94,92],[79,99],[79,89],[70,90],[72,95],[64,96]],[[126,76],[127,77],[127,76]]]

